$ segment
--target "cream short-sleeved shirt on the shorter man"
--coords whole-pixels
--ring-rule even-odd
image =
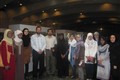
[[[46,49],[51,49],[57,44],[57,39],[55,36],[46,36]]]

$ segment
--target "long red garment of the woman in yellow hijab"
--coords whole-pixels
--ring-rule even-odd
[[[1,56],[4,66],[9,66],[9,70],[3,69],[2,80],[15,80],[15,55],[13,45],[8,44],[6,41],[1,42]]]

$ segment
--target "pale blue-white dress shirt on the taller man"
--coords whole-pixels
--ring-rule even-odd
[[[37,52],[39,52],[39,50],[44,51],[46,47],[45,37],[42,34],[32,35],[31,36],[31,47]]]

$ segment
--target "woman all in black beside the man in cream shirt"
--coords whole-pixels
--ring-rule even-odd
[[[64,78],[69,75],[69,62],[68,62],[68,44],[64,39],[64,34],[58,36],[57,44],[57,66],[58,77]]]

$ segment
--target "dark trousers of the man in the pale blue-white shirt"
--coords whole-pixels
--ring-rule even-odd
[[[44,72],[44,53],[39,54],[38,52],[33,50],[32,54],[33,54],[33,77],[36,78],[37,73],[39,73],[39,77],[41,77]]]

